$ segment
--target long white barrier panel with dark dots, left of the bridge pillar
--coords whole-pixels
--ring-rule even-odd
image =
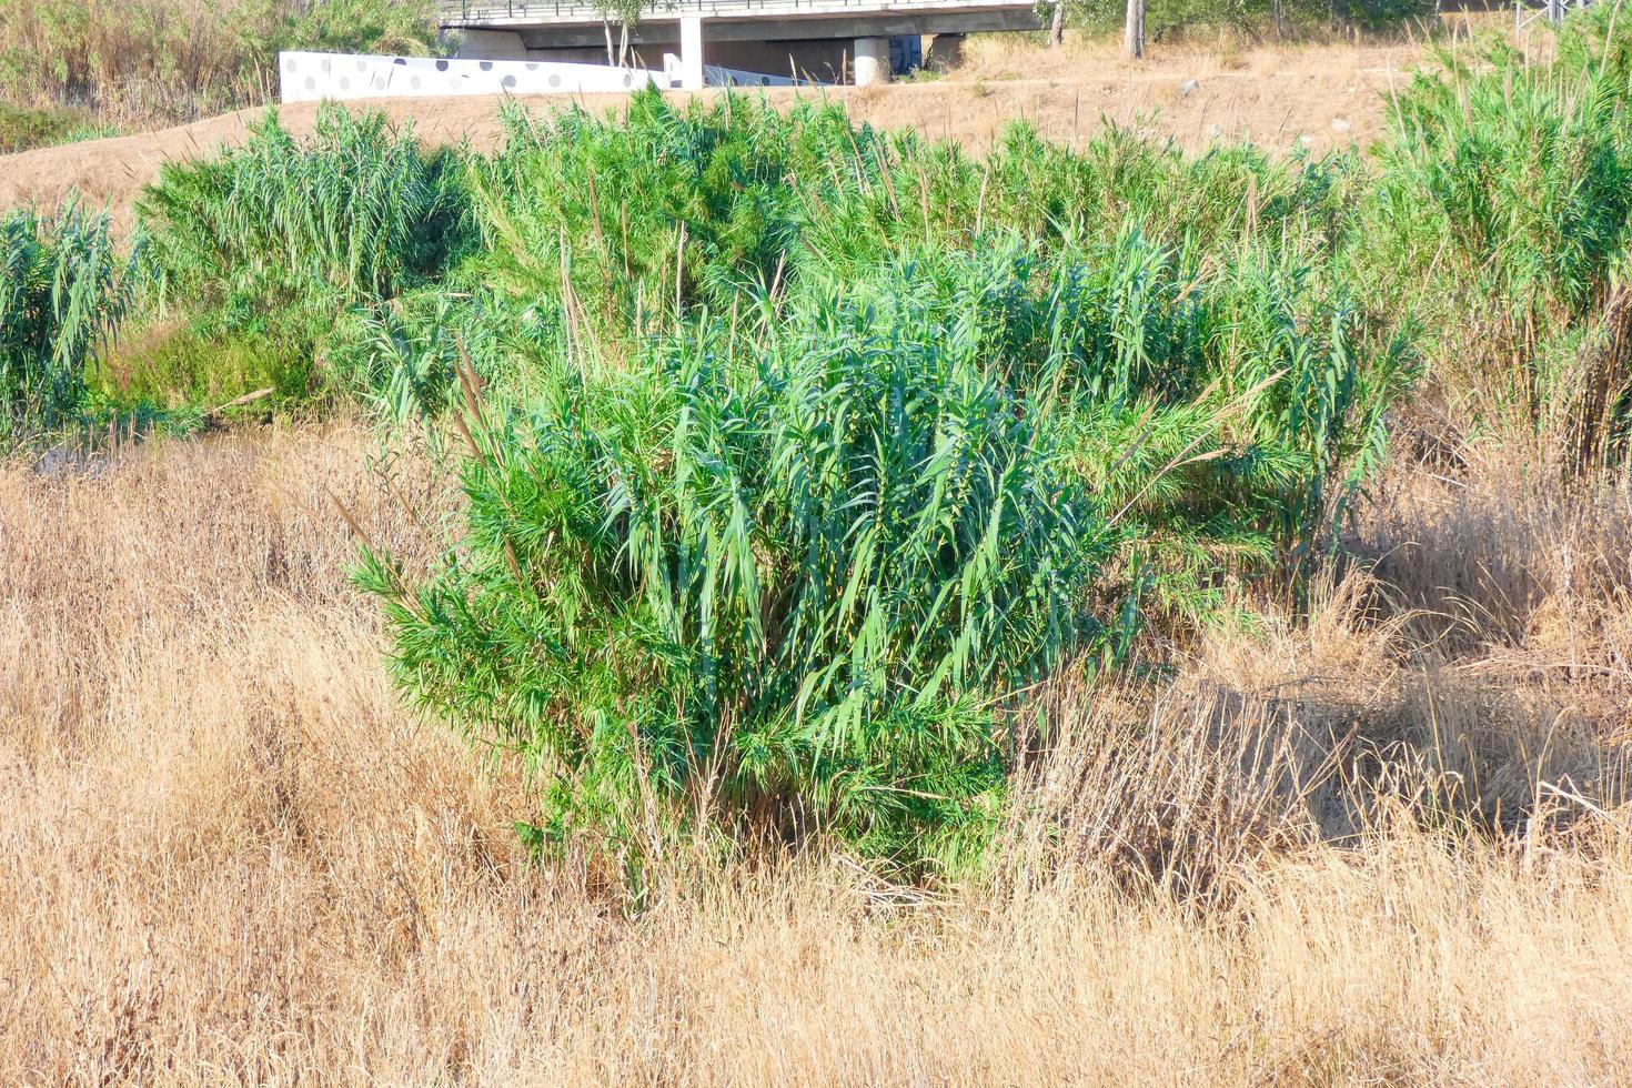
[[[746,80],[744,80],[746,82]],[[338,52],[277,54],[277,96],[286,103],[323,98],[418,98],[441,95],[576,95],[632,91],[669,77],[645,69],[553,60],[437,60]]]

